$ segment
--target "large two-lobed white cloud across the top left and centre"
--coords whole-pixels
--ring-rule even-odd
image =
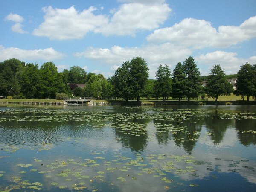
[[[33,34],[57,40],[81,39],[88,32],[106,36],[135,35],[140,30],[158,28],[171,12],[166,3],[159,2],[124,3],[118,9],[112,9],[109,16],[95,15],[95,10],[95,7],[81,12],[74,6],[68,9],[44,7],[44,22],[34,29]]]

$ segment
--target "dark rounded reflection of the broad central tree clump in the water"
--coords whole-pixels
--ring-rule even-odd
[[[133,119],[133,121],[142,125],[140,128],[131,127],[128,129],[115,128],[116,137],[119,137],[122,145],[126,148],[131,148],[132,151],[140,152],[143,151],[145,146],[148,143],[148,132],[146,131],[147,123],[150,122],[150,119]],[[129,124],[129,122],[127,122]],[[141,134],[140,131],[144,132]]]

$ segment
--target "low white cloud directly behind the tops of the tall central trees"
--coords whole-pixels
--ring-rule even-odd
[[[150,78],[152,79],[160,64],[167,64],[172,68],[177,62],[183,62],[191,53],[189,49],[166,43],[145,47],[113,46],[111,49],[90,47],[84,52],[75,53],[74,55],[98,61],[102,64],[109,64],[111,70],[116,70],[118,66],[122,65],[123,61],[131,61],[132,58],[137,56],[142,57],[148,63]]]

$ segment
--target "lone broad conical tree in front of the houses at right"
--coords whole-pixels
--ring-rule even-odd
[[[230,95],[232,90],[233,86],[227,81],[224,70],[219,64],[214,65],[205,86],[205,93],[207,96],[215,98],[215,101],[217,102],[218,96]]]

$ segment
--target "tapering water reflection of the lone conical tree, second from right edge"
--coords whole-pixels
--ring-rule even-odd
[[[211,140],[218,145],[223,140],[227,127],[233,125],[232,119],[205,119],[205,126],[211,134]]]

